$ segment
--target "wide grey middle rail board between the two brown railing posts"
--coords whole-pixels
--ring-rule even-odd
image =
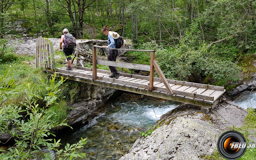
[[[108,60],[99,60],[97,59],[97,64],[106,65],[106,66],[116,66],[130,69],[138,69],[143,71],[150,71],[149,65],[135,64],[135,63],[125,63],[125,62],[116,62],[116,61],[108,61]]]

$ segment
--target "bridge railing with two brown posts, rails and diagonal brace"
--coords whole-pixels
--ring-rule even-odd
[[[107,65],[107,66],[116,66],[116,67],[124,67],[124,68],[131,68],[131,69],[138,69],[149,71],[149,85],[147,87],[148,90],[154,90],[154,71],[160,76],[164,86],[166,87],[168,93],[170,95],[173,94],[172,88],[170,87],[168,81],[164,77],[164,74],[160,67],[158,66],[155,60],[155,51],[154,50],[136,50],[136,49],[115,49],[115,50],[124,50],[124,51],[142,51],[142,52],[150,52],[150,66],[149,65],[142,65],[142,64],[132,64],[132,63],[125,63],[125,62],[115,62],[115,61],[107,61],[107,60],[99,60],[97,59],[97,52],[96,48],[102,48],[102,46],[93,45],[92,46],[92,79],[97,80],[99,77],[97,76],[97,64],[100,65]],[[112,48],[109,48],[112,49]]]

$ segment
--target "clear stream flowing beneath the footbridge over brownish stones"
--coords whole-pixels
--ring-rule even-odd
[[[145,132],[161,115],[179,105],[177,102],[146,96],[130,100],[124,95],[116,101],[107,102],[89,124],[59,136],[60,142],[63,145],[77,143],[81,137],[87,137],[88,143],[79,149],[86,153],[86,159],[117,160],[129,151],[140,132]]]

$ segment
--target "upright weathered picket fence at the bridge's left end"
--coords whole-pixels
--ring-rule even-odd
[[[43,37],[36,39],[36,68],[55,69],[52,44]]]

